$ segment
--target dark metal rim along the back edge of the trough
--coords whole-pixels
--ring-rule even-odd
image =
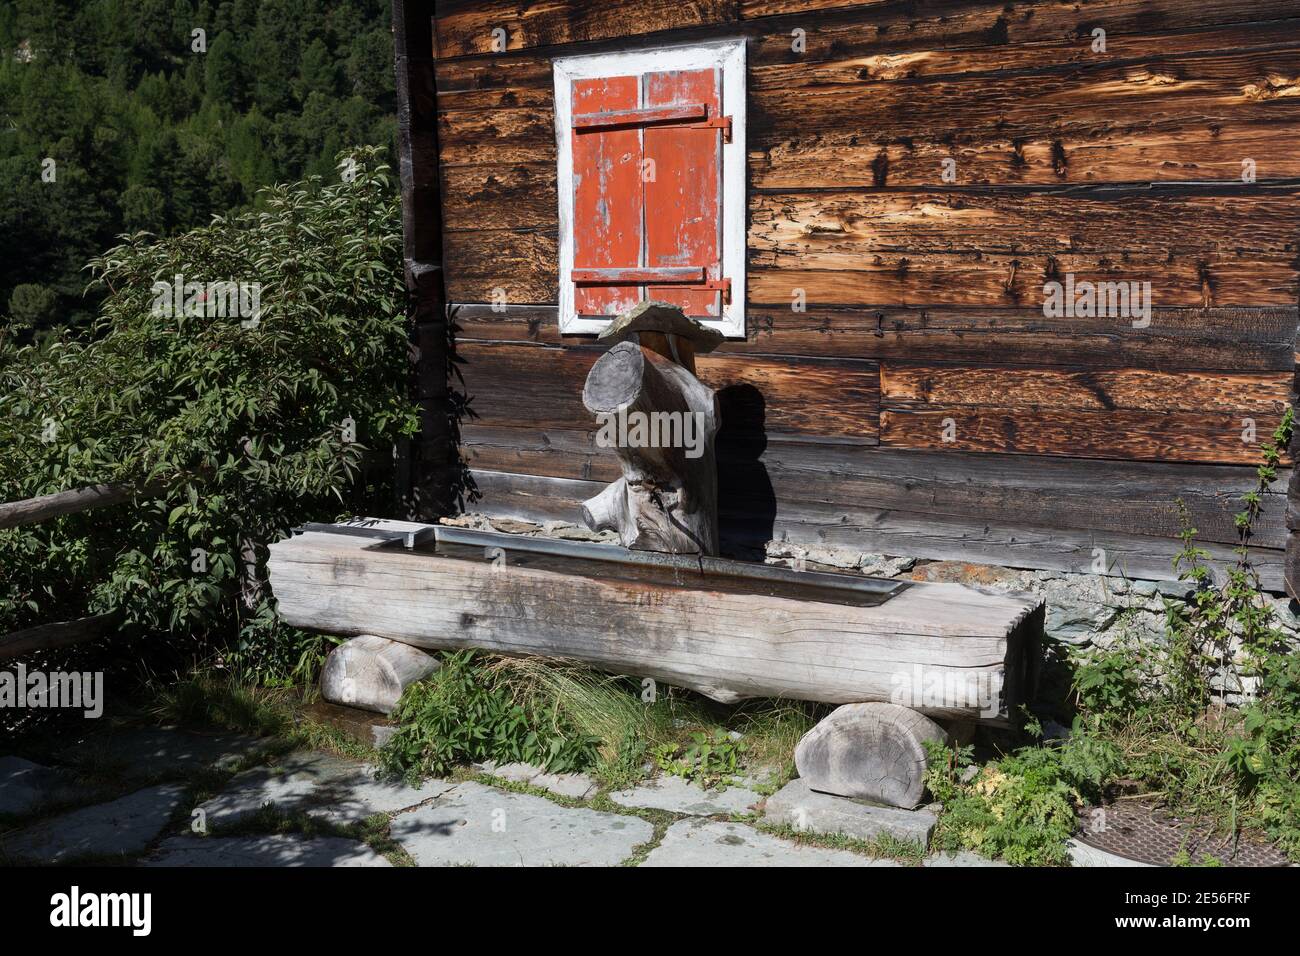
[[[324,532],[329,535],[352,535],[372,537],[385,544],[403,542],[407,548],[417,548],[434,542],[468,545],[473,548],[500,548],[504,551],[547,554],[558,558],[610,562],[640,567],[666,568],[707,578],[740,578],[762,580],[772,584],[802,585],[852,592],[859,597],[872,597],[884,601],[911,587],[911,581],[897,581],[889,578],[866,578],[862,575],[837,574],[833,571],[796,571],[779,564],[762,564],[731,558],[711,558],[699,554],[666,554],[662,551],[633,551],[620,545],[595,544],[590,541],[569,541],[554,537],[528,537],[507,535],[499,531],[476,531],[455,528],[445,524],[411,525],[411,529],[390,529],[356,524],[304,524],[294,528],[299,532]],[[701,584],[707,584],[702,580]]]

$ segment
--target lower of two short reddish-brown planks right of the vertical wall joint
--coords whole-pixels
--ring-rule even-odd
[[[1249,421],[1268,438],[1282,416],[1209,411],[1018,408],[1005,406],[887,407],[880,441],[909,449],[1253,464],[1258,445],[1243,441]]]

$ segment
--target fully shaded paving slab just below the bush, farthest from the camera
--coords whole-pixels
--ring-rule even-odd
[[[114,775],[146,779],[207,769],[229,769],[239,760],[270,747],[272,741],[239,734],[195,734],[178,727],[95,734],[64,750],[60,757]]]

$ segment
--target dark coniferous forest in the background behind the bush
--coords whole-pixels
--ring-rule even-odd
[[[393,147],[385,0],[0,4],[0,316],[83,325],[87,260]]]

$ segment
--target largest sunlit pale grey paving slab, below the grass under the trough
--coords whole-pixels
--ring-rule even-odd
[[[615,866],[654,827],[469,782],[394,817],[390,832],[420,866]]]

